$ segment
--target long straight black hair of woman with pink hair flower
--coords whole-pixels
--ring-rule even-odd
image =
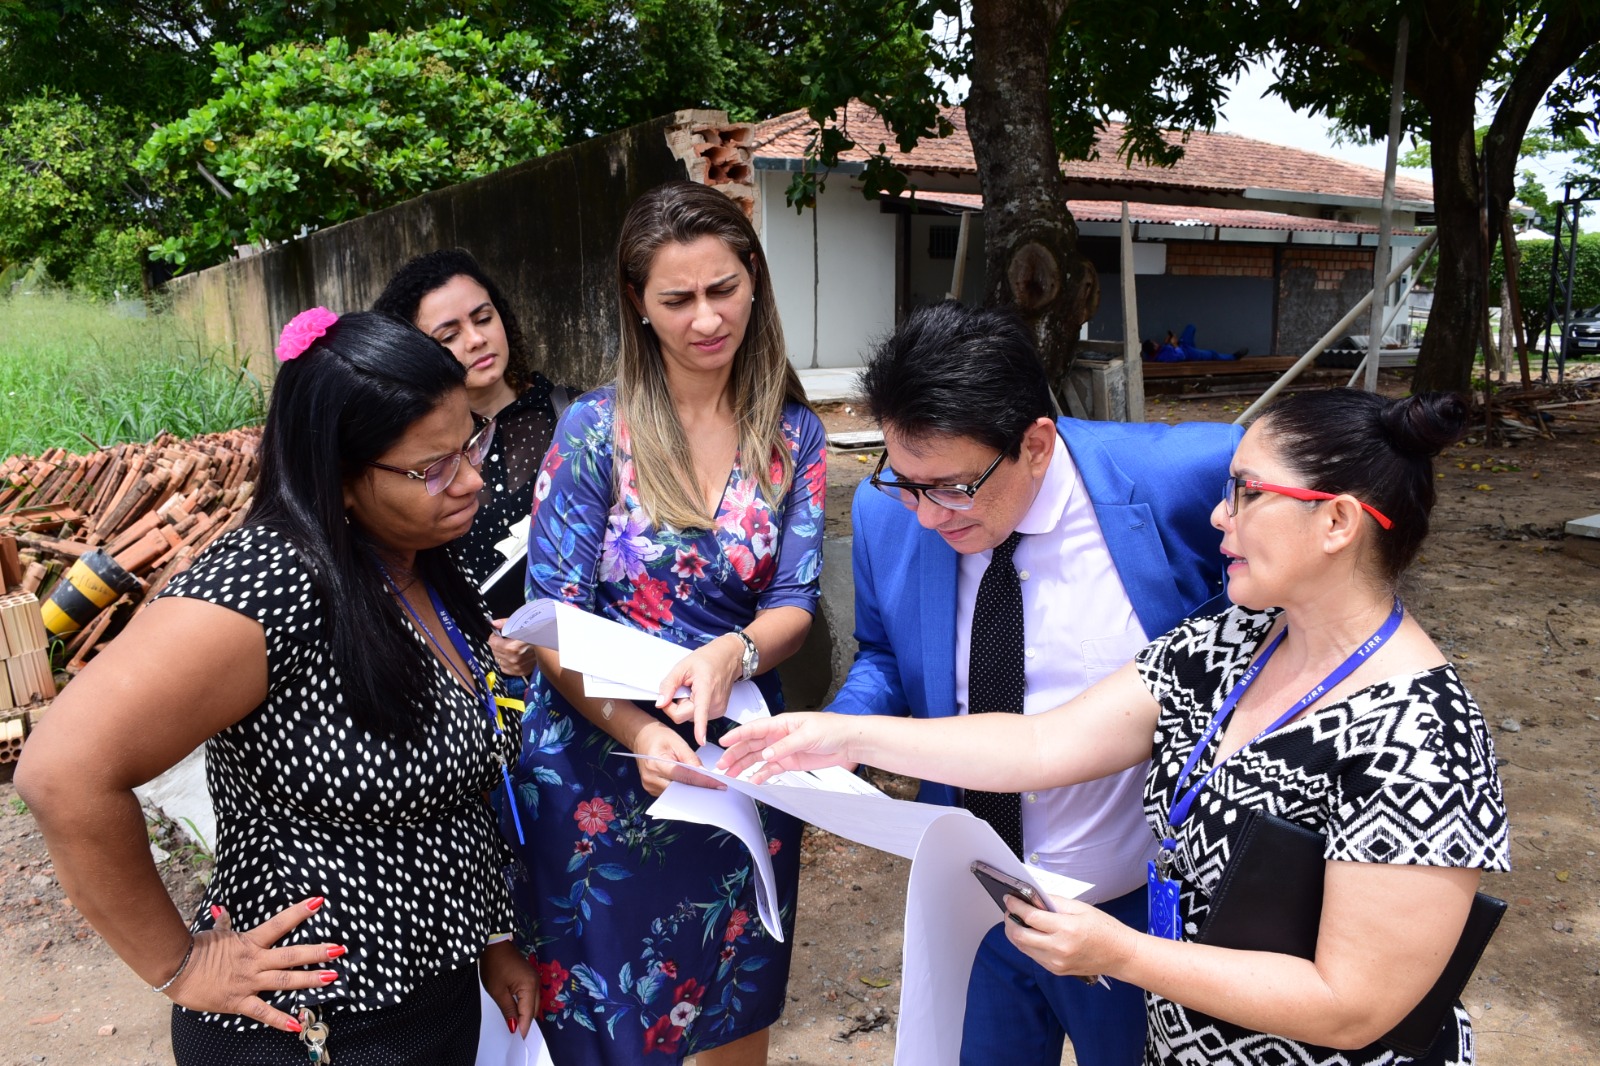
[[[370,733],[414,738],[437,714],[429,663],[378,565],[371,535],[344,514],[344,485],[394,445],[467,371],[443,344],[382,314],[341,317],[282,365],[261,434],[261,475],[245,525],[294,544],[323,603],[344,709]],[[416,554],[462,631],[490,624],[448,546]]]

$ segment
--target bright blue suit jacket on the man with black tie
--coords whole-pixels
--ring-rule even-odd
[[[1211,509],[1238,426],[1058,419],[1094,503],[1101,535],[1139,624],[1158,637],[1222,607],[1222,535]],[[829,711],[955,714],[957,552],[870,483],[851,509],[856,642],[850,675]],[[955,789],[923,783],[918,799],[954,804]]]

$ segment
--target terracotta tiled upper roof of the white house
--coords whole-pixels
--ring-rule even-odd
[[[973,146],[966,134],[966,112],[960,107],[946,110],[955,126],[949,138],[925,138],[910,152],[894,147],[894,138],[877,110],[859,101],[845,107],[843,130],[859,144],[877,147],[886,144],[890,158],[907,171],[976,173]],[[803,110],[768,118],[757,125],[754,155],[766,158],[802,158],[810,141],[811,122]],[[1168,189],[1242,192],[1243,189],[1285,189],[1293,192],[1333,194],[1344,197],[1379,198],[1384,174],[1371,166],[1346,163],[1304,149],[1269,144],[1237,133],[1166,134],[1170,142],[1184,142],[1184,157],[1178,165],[1128,166],[1117,157],[1122,141],[1122,123],[1109,123],[1099,136],[1096,160],[1074,160],[1062,165],[1067,178],[1080,181],[1104,181],[1122,186],[1155,186]],[[854,149],[845,155],[851,162],[864,162],[867,152]],[[1402,200],[1432,203],[1434,187],[1427,181],[1398,176],[1395,194]]]

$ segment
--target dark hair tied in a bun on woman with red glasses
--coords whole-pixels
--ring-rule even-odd
[[[1453,392],[1387,400],[1360,389],[1301,392],[1269,407],[1259,421],[1306,488],[1349,493],[1394,522],[1374,539],[1381,576],[1390,584],[1427,539],[1434,456],[1459,440],[1466,424],[1467,405]]]

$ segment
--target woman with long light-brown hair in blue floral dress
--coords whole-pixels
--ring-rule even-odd
[[[557,426],[534,488],[530,599],[694,648],[654,706],[582,695],[541,651],[517,802],[528,880],[517,936],[538,964],[558,1063],[765,1063],[782,1010],[800,826],[763,812],[784,943],[762,927],[731,836],[645,810],[706,781],[734,682],[782,709],[773,666],[811,626],[822,567],[824,434],[789,367],[770,272],[739,208],[669,184],[618,250],[613,384]],[[690,695],[672,698],[680,688]],[[626,752],[667,762],[640,762]]]

